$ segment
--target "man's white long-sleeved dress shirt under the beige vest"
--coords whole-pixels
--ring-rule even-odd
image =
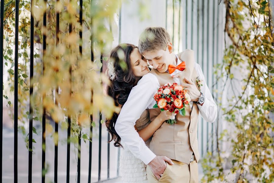
[[[177,57],[177,65],[181,62],[182,61]],[[206,97],[203,105],[198,105],[200,114],[206,121],[213,123],[217,117],[217,105],[206,84],[200,65],[195,63],[194,68],[197,71],[200,80],[203,80],[201,92]],[[178,72],[181,71],[175,70],[171,75],[177,74]],[[181,83],[179,78],[173,79],[175,83]],[[157,92],[157,88],[160,88],[160,84],[156,76],[151,73],[144,75],[139,80],[138,84],[132,88],[128,100],[122,107],[115,124],[115,131],[121,137],[123,144],[128,147],[134,156],[142,160],[145,164],[150,163],[156,155],[146,146],[143,139],[135,130],[134,125],[145,109],[152,109],[156,104],[153,96]]]

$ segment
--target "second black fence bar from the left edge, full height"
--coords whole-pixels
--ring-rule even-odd
[[[15,1],[15,49],[14,49],[14,182],[18,182],[18,27],[19,0]],[[1,96],[2,97],[2,96]],[[32,140],[32,139],[31,139]]]

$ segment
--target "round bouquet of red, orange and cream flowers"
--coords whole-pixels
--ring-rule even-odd
[[[153,108],[159,107],[161,111],[168,110],[170,113],[180,113],[182,116],[185,116],[185,108],[189,106],[191,101],[185,88],[177,83],[167,83],[161,86],[153,98],[156,101]],[[176,123],[175,116],[167,120],[167,123]]]

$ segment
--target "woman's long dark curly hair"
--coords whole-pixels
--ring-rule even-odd
[[[115,77],[107,87],[107,93],[114,99],[116,106],[125,104],[136,81],[130,63],[130,54],[135,48],[132,44],[120,44],[111,50],[110,62],[113,62]],[[115,147],[123,147],[114,129],[117,118],[118,113],[114,113],[111,119],[106,120],[107,131],[111,135],[109,142],[114,140]]]

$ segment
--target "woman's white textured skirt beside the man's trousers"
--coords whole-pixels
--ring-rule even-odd
[[[147,183],[146,164],[124,146],[120,156],[120,172],[124,183]]]

